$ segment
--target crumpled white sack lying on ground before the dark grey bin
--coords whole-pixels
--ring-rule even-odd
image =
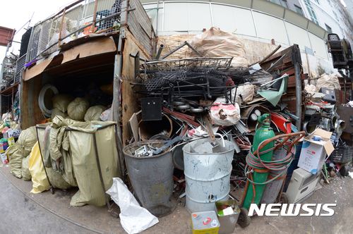
[[[121,178],[113,178],[113,185],[107,191],[119,206],[121,226],[129,234],[140,233],[158,223],[158,218],[140,204],[133,197]]]

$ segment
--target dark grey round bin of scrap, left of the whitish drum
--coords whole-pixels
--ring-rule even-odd
[[[145,209],[155,216],[172,213],[174,204],[170,200],[173,192],[173,159],[168,147],[154,156],[134,156],[135,150],[144,145],[162,147],[162,140],[135,142],[124,147],[128,176],[136,197]]]

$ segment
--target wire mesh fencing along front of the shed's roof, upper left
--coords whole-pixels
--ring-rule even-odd
[[[32,61],[38,56],[46,56],[58,50],[59,39],[61,39],[60,45],[62,45],[71,42],[73,39],[85,37],[92,33],[94,15],[95,20],[101,20],[95,24],[95,33],[102,30],[105,30],[105,32],[114,32],[120,21],[119,18],[102,19],[120,12],[121,0],[97,1],[96,13],[95,6],[96,1],[81,1],[67,11],[35,25],[32,32],[32,43],[30,44],[28,61]],[[90,26],[85,27],[87,25]]]

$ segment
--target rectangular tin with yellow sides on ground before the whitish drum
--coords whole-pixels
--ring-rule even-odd
[[[196,212],[191,214],[192,234],[218,234],[220,222],[215,211]]]

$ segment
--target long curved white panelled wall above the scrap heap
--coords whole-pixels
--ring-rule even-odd
[[[327,0],[321,1],[327,4]],[[149,9],[157,8],[157,4],[148,0],[141,2],[156,27],[157,10]],[[196,35],[201,33],[203,28],[208,30],[215,26],[226,32],[234,32],[244,39],[268,44],[274,39],[275,44],[282,44],[283,47],[299,44],[302,52],[308,47],[316,51],[316,56],[329,59],[323,40],[327,37],[325,30],[294,11],[265,0],[253,0],[253,8],[230,5],[237,1],[228,1],[227,4],[223,2],[225,0],[211,2],[160,0],[157,33]],[[303,7],[303,11],[305,10]],[[333,26],[329,26],[334,29]]]

